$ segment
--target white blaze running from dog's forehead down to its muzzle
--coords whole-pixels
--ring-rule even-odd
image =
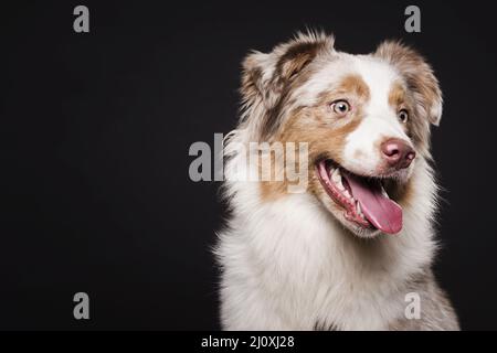
[[[343,147],[343,167],[355,173],[374,173],[381,165],[383,141],[398,138],[409,141],[389,95],[399,75],[385,63],[357,56],[355,66],[369,87],[370,99],[363,108],[362,121],[350,132]]]

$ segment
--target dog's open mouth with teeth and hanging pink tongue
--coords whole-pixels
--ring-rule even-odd
[[[331,160],[320,161],[317,174],[347,221],[387,234],[402,229],[402,207],[389,197],[381,179],[353,174]]]

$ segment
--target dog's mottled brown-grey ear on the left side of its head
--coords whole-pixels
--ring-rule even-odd
[[[247,105],[261,100],[274,108],[289,84],[321,52],[332,51],[334,38],[324,33],[298,33],[271,53],[253,52],[243,62],[241,94]]]

